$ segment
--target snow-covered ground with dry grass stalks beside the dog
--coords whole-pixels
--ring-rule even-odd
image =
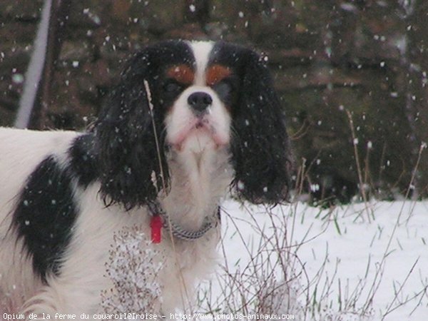
[[[428,202],[223,210],[226,259],[200,290],[205,310],[427,320]]]

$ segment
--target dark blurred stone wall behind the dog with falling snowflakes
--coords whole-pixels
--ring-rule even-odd
[[[0,126],[14,126],[45,1],[0,4]],[[300,197],[428,194],[428,1],[52,0],[50,12],[30,128],[82,130],[146,44],[221,39],[268,57]]]

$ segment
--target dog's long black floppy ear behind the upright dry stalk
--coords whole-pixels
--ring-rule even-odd
[[[95,124],[101,195],[106,205],[121,203],[126,210],[154,200],[162,180],[168,182],[161,137],[163,116],[161,111],[154,111],[158,153],[144,85],[147,81],[154,90],[156,66],[151,63],[152,54],[146,50],[131,59]]]

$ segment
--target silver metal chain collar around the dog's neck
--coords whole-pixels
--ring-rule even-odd
[[[217,223],[213,224],[212,220],[206,216],[205,223],[199,230],[185,230],[168,217],[168,214],[165,213],[165,210],[163,210],[161,204],[159,204],[158,201],[148,203],[148,209],[150,210],[152,216],[160,215],[163,219],[163,228],[170,231],[170,233],[172,233],[175,238],[179,238],[181,240],[198,240],[198,238],[202,238],[203,235],[208,232],[208,230],[217,226]]]

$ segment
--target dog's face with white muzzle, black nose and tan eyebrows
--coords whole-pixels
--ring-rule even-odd
[[[158,102],[165,109],[165,143],[180,153],[230,143],[233,71],[210,61],[212,43],[190,44],[193,59],[161,68]]]

